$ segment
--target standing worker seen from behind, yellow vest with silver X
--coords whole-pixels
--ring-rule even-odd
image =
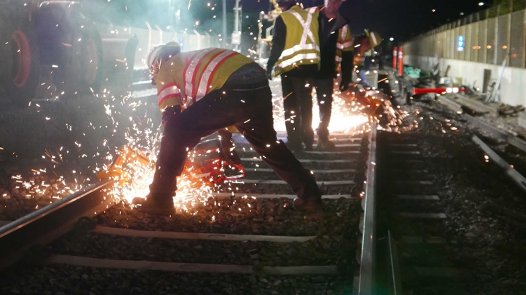
[[[319,36],[317,8],[305,11],[296,0],[278,0],[283,11],[274,23],[272,49],[266,72],[269,79],[281,75],[287,146],[293,151],[312,149],[311,87],[319,70]]]

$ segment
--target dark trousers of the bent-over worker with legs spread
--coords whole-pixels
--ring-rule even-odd
[[[150,185],[152,198],[171,199],[176,176],[184,169],[187,149],[201,137],[221,128],[236,126],[276,174],[288,183],[300,199],[319,199],[321,193],[310,170],[304,169],[273,127],[272,94],[268,81],[255,85],[225,85],[197,101],[188,109],[167,108],[164,112],[164,136],[157,170]]]

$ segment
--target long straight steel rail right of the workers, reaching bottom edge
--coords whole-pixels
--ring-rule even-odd
[[[362,199],[364,210],[362,248],[360,253],[360,277],[356,294],[374,294],[374,275],[376,264],[376,123],[369,133],[369,158],[367,159],[367,185]]]

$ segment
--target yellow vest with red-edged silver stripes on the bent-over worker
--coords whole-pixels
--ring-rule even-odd
[[[223,87],[230,75],[253,62],[235,51],[208,48],[177,53],[166,60],[157,74],[157,104],[189,108],[206,94]]]

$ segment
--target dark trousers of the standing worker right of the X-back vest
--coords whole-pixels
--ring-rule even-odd
[[[319,125],[316,131],[320,140],[328,140],[330,113],[333,111],[333,83],[333,78],[314,79],[319,107]]]

